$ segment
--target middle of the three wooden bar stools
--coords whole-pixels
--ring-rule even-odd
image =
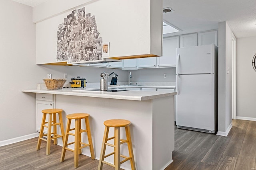
[[[61,158],[60,158],[60,162],[64,161],[64,157],[65,157],[65,153],[66,150],[70,150],[72,152],[74,152],[74,168],[78,167],[78,154],[82,154],[82,148],[84,147],[90,147],[90,152],[91,152],[91,157],[92,159],[95,159],[95,155],[94,155],[94,150],[93,150],[93,145],[92,145],[92,136],[91,136],[91,130],[90,130],[90,125],[89,125],[89,114],[87,113],[73,113],[73,114],[69,114],[66,117],[68,118],[68,123],[67,123],[67,127],[66,127],[66,133],[65,133],[65,137],[64,137],[64,143],[63,143],[63,147],[62,147],[62,153],[61,153]],[[70,124],[71,124],[71,120],[75,119],[75,128],[70,129]],[[85,125],[86,125],[86,129],[81,129],[81,119],[85,120]],[[75,131],[75,133],[70,133],[70,131]],[[88,143],[82,143],[82,137],[81,137],[81,133],[83,132],[87,132],[87,137],[88,137]],[[73,135],[75,137],[75,141],[72,143],[68,143],[68,135]],[[68,148],[68,145],[75,145],[74,150]],[[84,146],[82,146],[84,145]]]

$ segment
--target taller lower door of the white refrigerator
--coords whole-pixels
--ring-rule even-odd
[[[214,74],[178,75],[176,125],[215,130]]]

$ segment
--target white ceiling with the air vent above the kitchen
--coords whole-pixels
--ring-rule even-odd
[[[13,0],[28,6],[37,6],[47,0]],[[255,0],[163,0],[163,7],[174,12],[163,14],[164,21],[182,31],[164,36],[218,29],[218,22],[227,21],[234,35],[256,36]]]

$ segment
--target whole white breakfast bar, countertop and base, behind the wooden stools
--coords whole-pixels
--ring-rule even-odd
[[[132,123],[130,128],[137,170],[164,170],[172,162],[176,92],[94,92],[72,91],[72,89],[29,89],[22,92],[54,94],[55,107],[64,110],[62,113],[64,128],[67,114],[89,113],[96,159],[99,159],[102,146],[103,122],[108,119],[127,119]],[[123,139],[125,139],[124,132],[121,131]],[[113,134],[114,131],[110,131],[110,135]],[[86,139],[87,137],[82,136],[82,140],[86,141]],[[62,146],[61,140],[58,140],[58,145]],[[126,146],[126,144],[121,145],[121,153],[129,155]],[[107,148],[106,154],[112,151],[112,148]],[[90,150],[86,147],[82,154],[90,156]],[[114,158],[110,156],[105,160],[113,162]],[[130,162],[124,162],[121,168],[130,170]]]

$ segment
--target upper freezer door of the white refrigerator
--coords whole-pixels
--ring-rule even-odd
[[[177,48],[176,74],[214,73],[214,48],[213,44]]]

